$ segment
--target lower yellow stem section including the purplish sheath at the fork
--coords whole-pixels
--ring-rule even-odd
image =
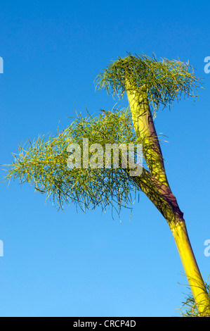
[[[209,295],[206,292],[204,280],[197,266],[185,220],[183,219],[183,212],[178,206],[176,197],[172,194],[169,187],[159,182],[144,168],[142,175],[132,177],[132,179],[162,213],[169,224],[197,308],[201,314],[204,313],[204,316],[210,316]]]

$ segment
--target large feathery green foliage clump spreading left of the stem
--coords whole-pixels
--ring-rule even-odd
[[[67,167],[67,146],[73,143],[82,146],[85,137],[89,144],[101,144],[104,151],[105,144],[136,144],[129,108],[106,111],[96,117],[78,115],[63,132],[49,137],[40,135],[34,142],[19,146],[19,153],[13,154],[13,163],[7,166],[6,179],[28,182],[46,193],[46,199],[53,199],[58,208],[70,201],[83,211],[96,206],[105,211],[112,206],[119,213],[122,206],[131,208],[136,196],[132,192],[140,189],[121,167],[91,170]]]

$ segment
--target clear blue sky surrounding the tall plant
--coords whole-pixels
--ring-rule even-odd
[[[114,100],[93,81],[117,56],[190,61],[199,99],[160,111],[173,194],[204,280],[209,229],[209,1],[4,1],[0,10],[1,157]],[[1,170],[0,180],[4,178]],[[122,223],[100,209],[58,212],[33,187],[1,182],[0,316],[180,316],[187,280],[169,226],[144,194]],[[182,285],[180,285],[181,283]],[[185,286],[186,285],[186,286]]]

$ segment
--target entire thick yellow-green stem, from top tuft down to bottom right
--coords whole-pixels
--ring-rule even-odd
[[[143,169],[142,175],[133,177],[133,180],[169,223],[197,308],[201,314],[205,313],[205,316],[210,316],[209,295],[192,251],[183,213],[166,178],[164,159],[150,112],[146,89],[145,87],[131,89],[129,83],[126,82],[126,92],[136,136],[138,141],[143,143],[143,156],[150,170],[149,172]]]

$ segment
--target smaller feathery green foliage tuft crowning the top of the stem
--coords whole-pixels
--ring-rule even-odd
[[[129,54],[112,61],[100,72],[95,82],[98,90],[105,89],[108,94],[117,94],[120,99],[126,92],[126,81],[131,89],[145,86],[152,111],[156,113],[160,104],[171,106],[171,102],[180,99],[182,94],[195,98],[197,94],[193,90],[197,91],[196,84],[200,80],[195,77],[189,63],[166,58],[157,61],[155,56],[150,58]]]

